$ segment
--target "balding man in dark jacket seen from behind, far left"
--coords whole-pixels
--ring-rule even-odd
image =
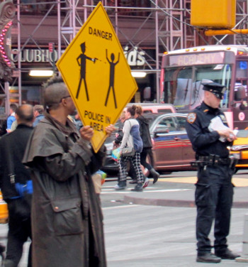
[[[16,110],[18,126],[15,131],[7,133],[0,139],[0,187],[9,209],[9,233],[5,267],[16,267],[23,254],[23,244],[31,238],[30,205],[31,195],[24,202],[16,190],[17,185],[24,188],[30,181],[30,171],[21,162],[33,131],[33,107],[23,104]],[[10,175],[11,174],[11,175]],[[25,214],[21,214],[25,208]],[[31,246],[30,246],[31,249]],[[31,254],[28,256],[31,264]]]

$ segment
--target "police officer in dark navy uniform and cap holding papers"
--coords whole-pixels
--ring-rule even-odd
[[[227,248],[232,207],[232,174],[235,163],[229,158],[227,146],[236,139],[227,127],[219,109],[225,87],[216,82],[202,83],[203,103],[188,114],[186,131],[196,151],[198,181],[196,183],[196,239],[198,262],[219,263],[222,258],[239,255]],[[217,126],[216,126],[217,125]],[[215,254],[211,254],[208,235],[215,219]]]

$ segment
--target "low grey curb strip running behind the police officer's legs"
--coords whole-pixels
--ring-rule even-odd
[[[130,197],[124,196],[123,202],[126,204],[137,204],[137,205],[152,205],[152,206],[163,206],[163,207],[196,207],[194,200],[162,200],[142,197]],[[239,209],[247,209],[248,202],[233,202],[232,207]]]

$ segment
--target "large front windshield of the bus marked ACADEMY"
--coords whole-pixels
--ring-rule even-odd
[[[203,101],[201,83],[218,82],[227,87],[220,103],[220,107],[227,107],[231,76],[229,64],[167,67],[164,70],[164,102],[174,104],[176,109],[194,109]]]

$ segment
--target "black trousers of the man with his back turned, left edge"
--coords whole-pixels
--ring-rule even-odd
[[[23,254],[23,244],[31,238],[31,222],[28,219],[21,219],[15,212],[15,200],[8,203],[9,209],[9,232],[6,259],[4,267],[17,267]],[[31,267],[31,245],[28,254],[28,267]]]

